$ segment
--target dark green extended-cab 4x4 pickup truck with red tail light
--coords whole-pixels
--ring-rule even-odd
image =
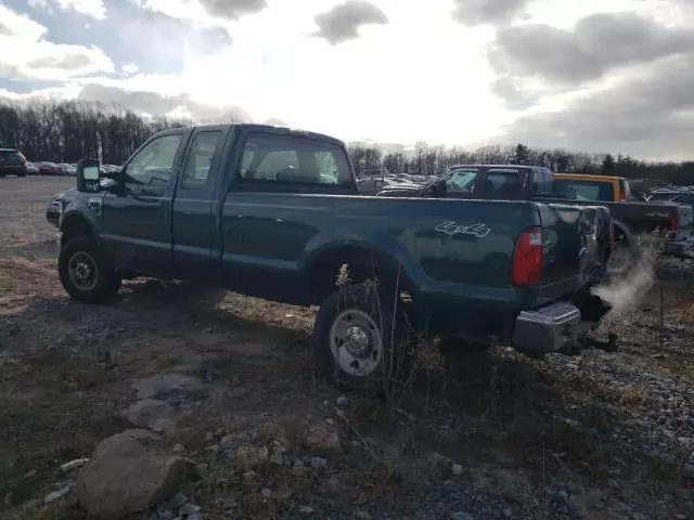
[[[319,306],[321,366],[350,387],[382,377],[413,335],[574,351],[609,310],[590,291],[601,214],[361,196],[344,143],[262,125],[166,130],[114,173],[82,159],[47,209],[73,298],[104,302],[149,276]]]

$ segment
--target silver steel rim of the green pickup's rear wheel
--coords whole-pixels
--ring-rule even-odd
[[[381,330],[376,322],[359,309],[343,311],[333,320],[330,349],[337,366],[350,376],[369,376],[383,360]]]

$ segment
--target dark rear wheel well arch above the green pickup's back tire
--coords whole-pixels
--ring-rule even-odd
[[[342,265],[347,264],[350,283],[367,280],[397,283],[400,291],[410,292],[413,284],[402,265],[387,255],[361,247],[339,247],[320,253],[308,268],[310,302],[320,304],[333,290]]]

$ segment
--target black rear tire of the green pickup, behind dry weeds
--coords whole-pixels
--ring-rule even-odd
[[[389,385],[407,374],[413,344],[401,307],[400,299],[395,298],[395,288],[388,290],[365,284],[343,287],[325,298],[313,326],[318,369],[322,376],[342,389],[384,395]],[[338,327],[338,322],[355,328],[349,341],[345,335],[336,339],[339,334],[333,330],[333,325]],[[360,333],[361,338],[368,338],[368,344],[354,355],[357,346],[350,341],[358,342]],[[334,343],[332,336],[335,336]],[[333,344],[337,354],[333,353]],[[339,352],[349,355],[343,361],[349,369],[338,362]]]

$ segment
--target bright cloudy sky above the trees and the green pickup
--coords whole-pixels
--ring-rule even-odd
[[[694,0],[0,0],[0,49],[11,100],[694,159]]]

